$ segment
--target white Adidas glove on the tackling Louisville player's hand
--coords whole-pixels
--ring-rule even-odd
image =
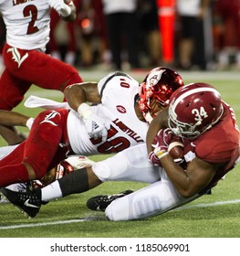
[[[92,112],[87,103],[80,104],[78,107],[78,115],[82,118],[90,138],[101,138],[102,142],[107,140],[108,131],[104,125],[104,119]]]

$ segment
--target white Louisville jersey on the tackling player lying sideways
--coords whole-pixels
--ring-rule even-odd
[[[78,113],[68,114],[68,138],[77,155],[112,154],[146,141],[148,123],[141,122],[134,110],[140,85],[124,73],[111,73],[98,84],[101,103],[91,106],[108,128],[106,142],[89,138]]]

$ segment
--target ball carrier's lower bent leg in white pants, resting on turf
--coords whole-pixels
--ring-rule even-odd
[[[105,214],[110,220],[146,219],[179,207],[197,197],[200,196],[183,198],[169,180],[160,180],[126,197],[113,200],[106,208]]]

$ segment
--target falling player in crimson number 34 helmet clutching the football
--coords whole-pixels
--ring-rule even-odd
[[[87,168],[89,174],[94,173],[86,185],[88,189],[99,180],[134,180],[151,185],[135,192],[126,190],[92,197],[87,203],[89,208],[105,210],[110,220],[150,218],[209,193],[235,167],[239,160],[235,112],[221,100],[214,87],[206,83],[183,86],[172,94],[167,125],[163,112],[151,122],[147,136],[149,152],[146,144],[137,144]],[[183,141],[181,165],[167,151],[173,135]],[[29,199],[39,206],[40,200],[83,192],[86,187],[77,175],[82,171],[64,176],[41,191],[38,189],[36,194],[25,194],[22,201]]]

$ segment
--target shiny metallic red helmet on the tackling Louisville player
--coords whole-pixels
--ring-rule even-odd
[[[158,67],[151,69],[140,87],[140,110],[148,123],[156,116],[151,110],[151,100],[155,99],[162,107],[168,106],[173,91],[183,86],[182,77],[174,70]]]

